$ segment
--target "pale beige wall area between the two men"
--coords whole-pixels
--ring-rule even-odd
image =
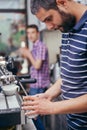
[[[50,64],[56,62],[56,55],[59,54],[59,47],[61,46],[61,32],[60,31],[44,31],[43,41],[46,43],[49,50]]]

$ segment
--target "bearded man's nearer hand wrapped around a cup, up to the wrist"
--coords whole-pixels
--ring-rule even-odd
[[[26,112],[25,115],[46,115],[52,114],[53,111],[53,103],[44,94],[24,97],[22,105],[23,110],[30,110]]]

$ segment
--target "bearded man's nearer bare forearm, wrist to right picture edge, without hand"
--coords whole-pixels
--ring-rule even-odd
[[[60,102],[53,103],[52,114],[69,114],[87,112],[87,94]]]

